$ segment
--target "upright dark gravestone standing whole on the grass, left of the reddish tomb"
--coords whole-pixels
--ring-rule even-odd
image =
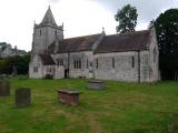
[[[31,104],[31,89],[21,88],[16,90],[16,106],[29,106]]]

